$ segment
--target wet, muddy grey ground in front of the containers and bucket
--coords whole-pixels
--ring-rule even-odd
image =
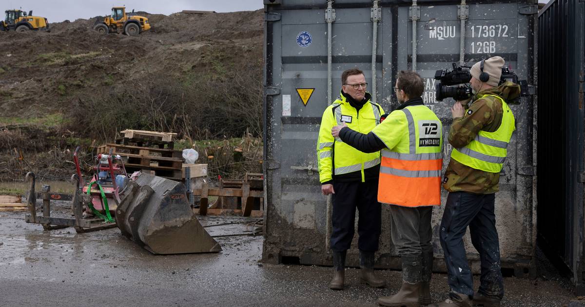
[[[57,208],[66,214],[66,206]],[[400,285],[379,270],[387,289],[359,284],[347,268],[344,291],[327,288],[331,267],[261,263],[261,236],[216,237],[217,254],[154,256],[117,228],[77,234],[43,231],[24,212],[0,213],[0,305],[9,306],[376,306]],[[210,234],[248,234],[256,219],[199,217]],[[541,259],[542,260],[542,259]],[[541,265],[536,280],[505,278],[502,306],[583,306],[570,282]],[[479,280],[476,277],[476,285]],[[445,274],[433,274],[433,301],[446,297]]]

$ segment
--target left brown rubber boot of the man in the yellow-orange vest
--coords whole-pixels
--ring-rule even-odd
[[[378,304],[382,306],[402,307],[420,306],[422,287],[422,257],[402,256],[402,287],[393,296],[378,298]]]

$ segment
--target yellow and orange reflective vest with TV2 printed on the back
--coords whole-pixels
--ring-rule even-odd
[[[441,120],[424,105],[390,113],[372,130],[382,150],[378,201],[398,206],[441,205]]]

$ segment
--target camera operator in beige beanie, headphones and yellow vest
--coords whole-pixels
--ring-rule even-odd
[[[448,269],[446,306],[499,306],[504,296],[500,270],[500,244],[495,229],[494,201],[506,148],[515,130],[507,101],[518,98],[519,85],[500,84],[504,59],[491,57],[473,65],[471,85],[475,101],[457,101],[451,108],[453,124],[449,144],[451,160],[443,178],[449,191],[441,221],[441,246]],[[481,278],[476,295],[467,262],[463,235],[467,226],[480,254]]]

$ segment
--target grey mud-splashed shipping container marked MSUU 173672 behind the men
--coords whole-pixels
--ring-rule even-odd
[[[435,71],[452,69],[452,63],[470,66],[502,56],[521,80],[534,84],[536,4],[534,0],[265,0],[263,260],[332,263],[331,202],[321,194],[315,148],[321,115],[339,95],[342,71],[361,68],[372,85],[368,91],[386,111],[397,106],[393,86],[398,71],[417,71],[425,81],[425,104],[441,118],[446,139],[454,101],[436,101]],[[516,275],[534,268],[533,98],[526,96],[521,104],[511,106],[517,130],[495,204],[503,268]],[[443,170],[450,150],[446,144]],[[443,204],[446,196],[443,191]],[[438,237],[442,213],[443,206],[433,209],[437,270],[444,270]],[[380,268],[401,267],[391,243],[390,220],[383,205],[376,254]],[[464,240],[472,270],[478,272],[479,256],[469,234]],[[347,265],[359,264],[356,243],[357,231]]]

